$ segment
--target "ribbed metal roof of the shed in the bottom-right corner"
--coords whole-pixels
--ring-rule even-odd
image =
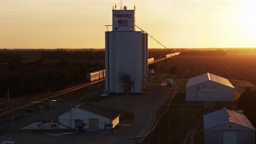
[[[255,128],[252,126],[252,124],[245,115],[233,112],[231,110],[227,110],[226,108],[223,108],[216,112],[205,114],[204,130],[229,122],[255,130]]]

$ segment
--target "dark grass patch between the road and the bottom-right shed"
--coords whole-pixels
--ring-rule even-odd
[[[202,105],[173,105],[173,117],[172,108],[169,109],[170,131],[168,131],[168,113],[166,112],[156,126],[149,142],[151,144],[159,143],[159,141],[162,144],[182,144],[186,130],[198,119],[202,111]],[[149,136],[143,144],[146,144],[148,139]]]

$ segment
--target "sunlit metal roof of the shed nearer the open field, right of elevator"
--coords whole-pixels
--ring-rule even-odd
[[[213,82],[217,82],[217,83],[229,86],[231,88],[234,88],[234,86],[228,81],[228,79],[222,78],[220,76],[216,76],[214,74],[210,74],[208,72],[205,73],[205,74],[201,74],[199,76],[196,76],[194,78],[188,79],[188,83],[186,85],[186,88],[188,88],[190,86],[194,86],[196,84],[200,84],[202,82],[206,82],[208,80],[211,80]]]

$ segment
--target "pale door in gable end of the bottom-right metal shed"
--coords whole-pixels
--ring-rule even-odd
[[[223,144],[237,144],[236,130],[223,130]]]

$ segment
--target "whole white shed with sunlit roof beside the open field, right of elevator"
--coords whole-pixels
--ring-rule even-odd
[[[206,73],[190,78],[186,101],[234,101],[234,86],[226,78]]]

